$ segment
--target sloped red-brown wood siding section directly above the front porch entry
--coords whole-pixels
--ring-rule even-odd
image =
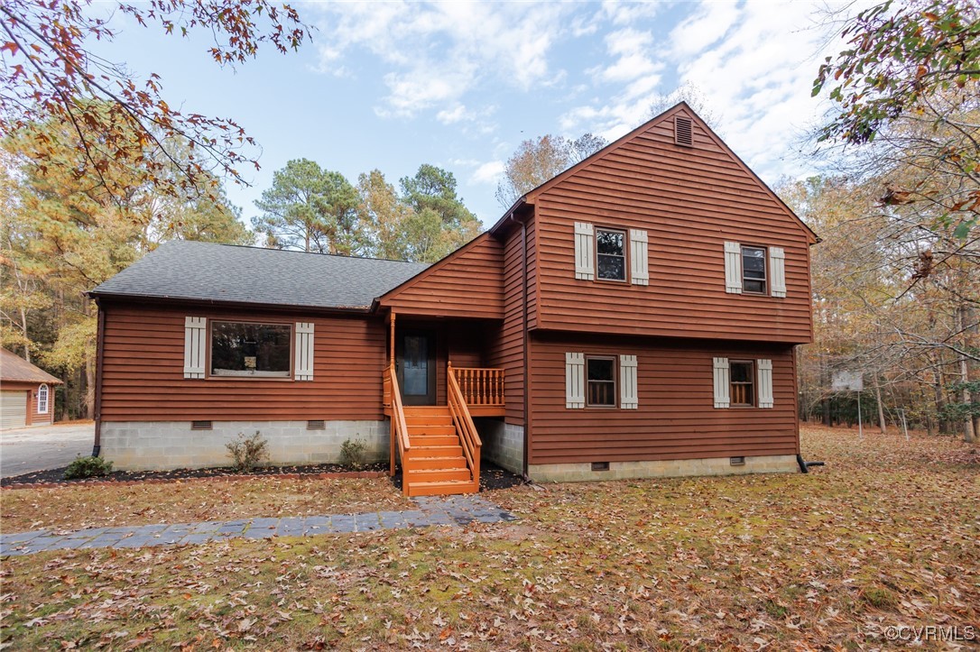
[[[499,241],[484,233],[379,303],[397,314],[500,319],[504,310],[502,249]]]

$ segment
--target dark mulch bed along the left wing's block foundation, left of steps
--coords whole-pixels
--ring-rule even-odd
[[[201,480],[221,478],[223,480],[247,480],[249,478],[279,477],[279,478],[378,478],[387,474],[387,464],[368,464],[360,471],[351,471],[339,464],[315,464],[310,466],[262,466],[251,473],[235,473],[228,467],[210,469],[175,469],[172,471],[113,471],[105,476],[87,478],[84,480],[66,480],[63,466],[58,469],[47,469],[25,473],[11,478],[0,478],[0,487],[47,487],[72,485],[117,485],[117,484],[159,484],[183,480]]]

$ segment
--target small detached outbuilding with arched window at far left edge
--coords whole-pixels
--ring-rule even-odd
[[[54,388],[61,384],[23,357],[0,349],[0,429],[54,422]]]

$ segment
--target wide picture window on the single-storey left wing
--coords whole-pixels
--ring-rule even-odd
[[[211,375],[288,378],[291,337],[288,324],[212,322]]]

